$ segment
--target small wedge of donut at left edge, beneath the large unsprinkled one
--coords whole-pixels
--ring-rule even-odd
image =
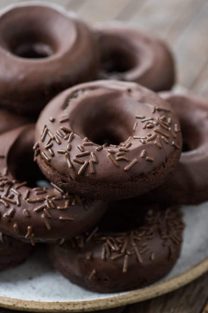
[[[11,129],[33,122],[35,122],[35,118],[17,115],[11,111],[0,109],[0,134],[5,131],[9,131]]]

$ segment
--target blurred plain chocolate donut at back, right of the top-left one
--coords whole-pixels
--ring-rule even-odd
[[[172,87],[172,54],[158,38],[121,22],[95,23],[93,29],[101,56],[99,79],[134,81],[155,91]]]

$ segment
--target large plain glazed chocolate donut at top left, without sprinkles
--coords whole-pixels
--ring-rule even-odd
[[[61,90],[97,75],[97,50],[85,23],[59,6],[8,6],[0,12],[0,106],[39,113]]]

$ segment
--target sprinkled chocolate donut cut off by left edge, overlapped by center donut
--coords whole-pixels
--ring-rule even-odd
[[[33,124],[2,134],[0,142],[2,233],[30,241],[32,245],[62,242],[99,221],[105,203],[64,193],[54,184],[49,189],[34,187],[40,176],[36,163],[32,162]]]

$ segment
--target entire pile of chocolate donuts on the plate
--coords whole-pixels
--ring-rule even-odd
[[[208,105],[168,91],[166,45],[26,2],[0,13],[0,59],[0,269],[46,243],[54,268],[89,290],[165,276],[180,205],[207,200],[208,182]]]

